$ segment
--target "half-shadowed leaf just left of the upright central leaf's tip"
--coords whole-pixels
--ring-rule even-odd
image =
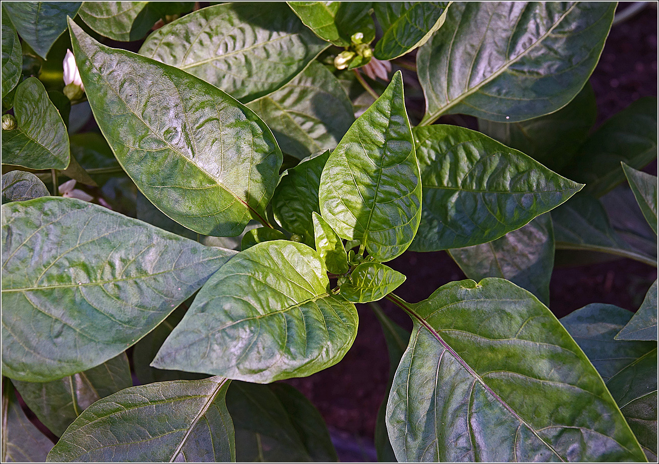
[[[355,122],[339,80],[315,61],[276,92],[247,106],[270,127],[281,150],[298,159],[334,148]]]

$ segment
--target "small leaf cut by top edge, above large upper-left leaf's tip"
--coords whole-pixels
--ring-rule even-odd
[[[92,30],[122,42],[146,36],[159,14],[148,1],[86,1],[78,12]],[[73,16],[71,16],[73,17]]]

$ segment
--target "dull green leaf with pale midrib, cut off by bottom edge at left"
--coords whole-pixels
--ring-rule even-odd
[[[235,461],[229,382],[173,380],[105,397],[71,424],[47,461]]]

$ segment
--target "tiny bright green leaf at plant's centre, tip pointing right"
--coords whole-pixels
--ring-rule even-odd
[[[362,262],[341,284],[341,296],[353,303],[368,303],[383,299],[405,281],[405,275],[379,262]]]

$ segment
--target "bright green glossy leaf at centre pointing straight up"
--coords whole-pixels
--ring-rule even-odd
[[[396,72],[329,155],[320,212],[339,237],[358,239],[377,261],[402,254],[421,217],[421,179]]]

